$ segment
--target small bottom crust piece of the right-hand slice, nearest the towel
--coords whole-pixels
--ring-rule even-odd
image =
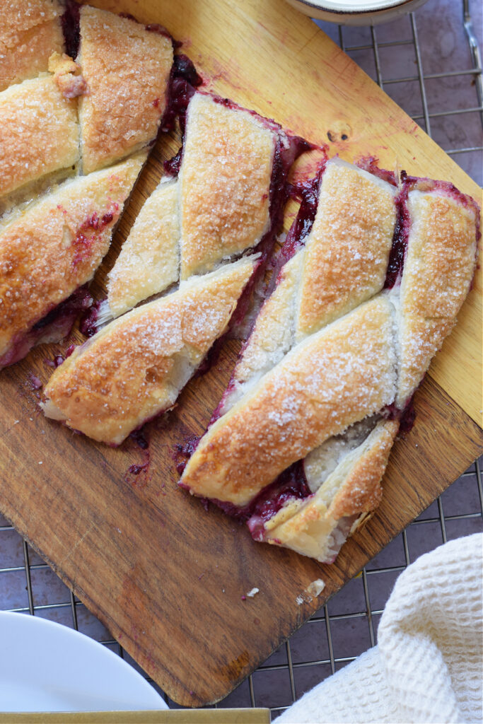
[[[270,518],[259,539],[331,563],[343,539],[381,501],[381,480],[398,427],[395,420],[379,421],[314,494],[288,502]]]

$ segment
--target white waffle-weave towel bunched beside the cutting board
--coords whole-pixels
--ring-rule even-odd
[[[277,724],[481,722],[483,536],[422,555],[396,581],[378,645]]]

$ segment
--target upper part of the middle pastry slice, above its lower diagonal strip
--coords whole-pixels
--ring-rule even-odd
[[[109,274],[101,319],[247,249],[266,255],[280,227],[287,172],[308,143],[231,101],[188,92],[179,175],[164,177],[141,209]]]

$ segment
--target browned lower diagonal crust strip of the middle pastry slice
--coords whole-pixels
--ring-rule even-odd
[[[46,414],[119,445],[172,407],[226,329],[256,257],[240,259],[108,324],[77,348],[45,388]]]

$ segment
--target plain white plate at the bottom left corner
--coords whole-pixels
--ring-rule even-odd
[[[0,612],[0,712],[167,709],[151,684],[83,633]]]

